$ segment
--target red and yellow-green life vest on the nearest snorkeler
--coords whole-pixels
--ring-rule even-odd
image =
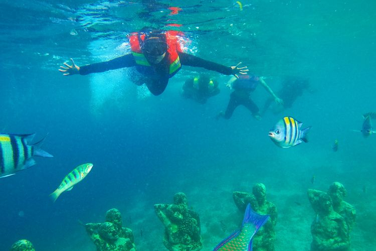
[[[177,52],[182,52],[182,50],[180,48],[179,42],[177,41],[177,35],[179,35],[179,32],[167,31],[165,32],[165,34],[168,46],[166,53],[166,57],[168,57],[167,60],[169,63],[168,77],[170,78],[175,75],[181,68]],[[141,41],[144,41],[145,35],[132,33],[129,37],[132,54],[137,64],[137,70],[143,74],[152,74],[153,71],[151,65],[147,61],[145,55],[142,53],[139,39],[141,39]]]

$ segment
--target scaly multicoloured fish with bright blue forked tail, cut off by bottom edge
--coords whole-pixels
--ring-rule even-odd
[[[251,209],[248,204],[242,227],[222,240],[214,249],[221,251],[252,251],[252,239],[262,225],[269,219],[269,215],[261,215]]]

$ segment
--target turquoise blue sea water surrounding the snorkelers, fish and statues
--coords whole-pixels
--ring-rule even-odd
[[[278,209],[276,250],[308,250],[315,213],[307,189],[326,191],[334,181],[357,210],[352,248],[375,250],[376,138],[352,130],[376,111],[376,4],[242,4],[243,11],[235,1],[0,1],[1,132],[48,134],[43,149],[54,155],[0,179],[0,250],[22,238],[37,250],[95,250],[78,220],[102,222],[113,207],[138,250],[164,250],[153,204],[172,203],[179,191],[200,214],[203,250],[212,250],[227,235],[218,222],[231,228],[241,220],[232,192],[257,182]],[[181,11],[169,15],[176,6]],[[160,96],[137,88],[126,69],[57,71],[70,57],[83,65],[128,53],[127,34],[165,24],[181,24],[174,29],[190,39],[194,55],[227,66],[241,61],[273,90],[284,76],[309,78],[313,91],[261,121],[244,107],[217,121],[229,76],[213,73],[221,93],[202,105],[179,94],[188,77],[205,72],[197,68],[183,67]],[[267,97],[261,87],[253,93],[260,107]],[[280,149],[268,139],[284,115],[312,126],[308,144]],[[88,177],[52,203],[48,195],[64,176],[87,162],[94,164]]]

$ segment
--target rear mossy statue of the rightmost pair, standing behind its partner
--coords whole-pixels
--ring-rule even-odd
[[[343,201],[343,198],[347,195],[346,189],[341,183],[333,182],[329,186],[327,193],[333,202],[334,211],[339,213],[345,219],[348,229],[351,231],[355,224],[356,211],[352,205]]]

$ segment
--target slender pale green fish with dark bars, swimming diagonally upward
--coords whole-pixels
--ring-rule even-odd
[[[65,191],[72,190],[74,185],[76,185],[78,182],[80,182],[86,177],[86,175],[90,172],[92,167],[93,164],[87,163],[82,164],[73,169],[72,172],[65,176],[60,186],[52,194],[50,194],[52,200],[55,202],[56,199],[60,196],[60,194],[62,194]]]

